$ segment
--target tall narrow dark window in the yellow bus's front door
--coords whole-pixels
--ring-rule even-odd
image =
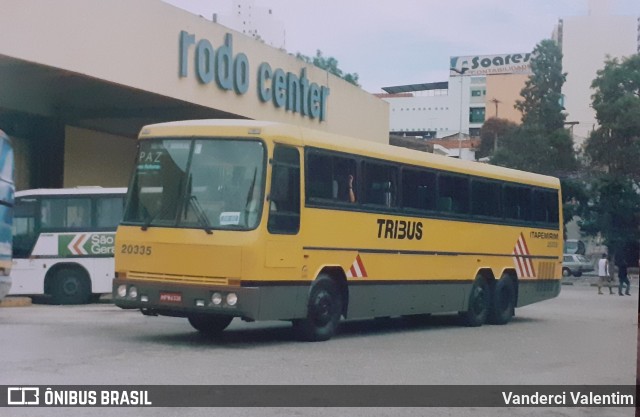
[[[271,172],[267,229],[274,234],[296,234],[300,229],[300,154],[296,148],[276,145]]]

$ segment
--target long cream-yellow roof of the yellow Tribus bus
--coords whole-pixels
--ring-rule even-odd
[[[560,186],[559,180],[555,177],[481,162],[464,161],[399,146],[380,144],[320,130],[268,121],[212,119],[160,123],[143,127],[140,132],[140,139],[151,137],[211,136],[213,133],[215,133],[216,136],[238,138],[276,136],[278,139],[284,140],[286,143],[292,145],[318,147],[366,157],[391,160],[403,164],[428,166],[460,174],[478,175],[542,187],[559,188]]]

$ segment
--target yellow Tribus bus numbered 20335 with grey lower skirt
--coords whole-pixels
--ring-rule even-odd
[[[186,317],[459,312],[504,324],[560,292],[559,181],[286,124],[146,126],[116,233],[114,302]]]

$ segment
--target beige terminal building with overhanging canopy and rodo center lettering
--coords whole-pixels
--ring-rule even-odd
[[[388,143],[388,104],[158,0],[23,0],[0,13],[0,129],[16,187],[126,186],[141,127],[271,120]]]

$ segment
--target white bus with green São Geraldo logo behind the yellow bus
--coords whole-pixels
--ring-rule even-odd
[[[84,304],[111,292],[113,244],[126,188],[19,191],[10,295]]]

